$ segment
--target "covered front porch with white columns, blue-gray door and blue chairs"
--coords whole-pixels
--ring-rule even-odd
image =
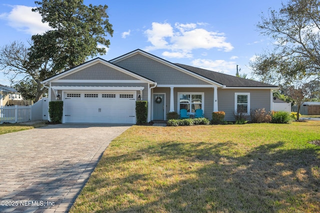
[[[167,120],[168,112],[186,109],[193,115],[202,109],[203,116],[211,119],[212,112],[218,111],[217,88],[215,85],[157,85],[150,93],[148,121]]]

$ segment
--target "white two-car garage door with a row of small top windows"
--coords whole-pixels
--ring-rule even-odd
[[[135,92],[63,93],[64,123],[135,123]]]

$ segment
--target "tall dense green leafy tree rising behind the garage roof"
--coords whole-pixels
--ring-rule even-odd
[[[52,60],[54,70],[69,69],[83,63],[88,56],[105,54],[102,44],[109,47],[112,25],[108,21],[107,5],[88,6],[83,0],[35,1],[32,11],[39,12],[42,22],[52,30],[42,35],[33,35],[32,57],[40,58],[44,53]]]

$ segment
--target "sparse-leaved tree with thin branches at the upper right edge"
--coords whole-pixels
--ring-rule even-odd
[[[262,14],[257,27],[274,42],[250,63],[253,74],[287,83],[320,77],[320,0],[289,0]]]

